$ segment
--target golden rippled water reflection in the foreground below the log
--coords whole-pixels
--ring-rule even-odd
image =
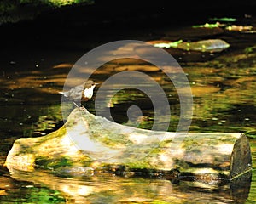
[[[172,184],[166,179],[123,178],[112,174],[78,179],[58,178],[50,173],[35,171],[12,173],[11,176],[14,180],[8,182],[12,185],[4,191],[5,195],[0,196],[0,201],[5,201],[8,195],[16,201],[26,202],[61,203],[65,199],[67,203],[243,203],[249,190],[249,186],[238,189],[236,186],[235,189],[229,184]],[[14,186],[15,180],[19,180],[21,186]],[[243,192],[238,193],[237,190],[241,189]],[[35,196],[36,192],[40,195]],[[20,195],[19,199],[15,195]]]

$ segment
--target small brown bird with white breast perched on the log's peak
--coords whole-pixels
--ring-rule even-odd
[[[73,101],[77,107],[81,107],[81,101],[88,101],[93,95],[93,89],[98,83],[88,80],[84,84],[71,88],[67,92],[59,92],[67,99]]]

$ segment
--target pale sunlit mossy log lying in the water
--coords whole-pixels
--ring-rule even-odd
[[[241,133],[170,133],[110,122],[77,108],[66,124],[39,138],[15,141],[5,165],[10,172],[35,167],[55,173],[177,172],[199,178],[238,178],[250,172],[247,137]],[[181,174],[182,175],[182,174]]]

